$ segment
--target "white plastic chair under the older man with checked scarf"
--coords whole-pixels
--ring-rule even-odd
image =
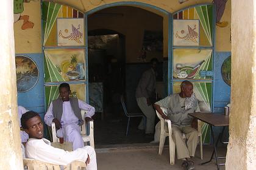
[[[163,110],[163,113],[167,114],[168,110],[164,107],[160,107]],[[156,110],[157,112],[157,110]],[[170,155],[170,164],[174,165],[175,160],[175,143],[172,139],[172,131],[171,131],[171,120],[164,120],[162,116],[157,112],[157,117],[160,119],[161,125],[161,134],[160,134],[160,143],[159,143],[159,151],[158,154],[162,155],[163,145],[165,144],[165,137],[169,137],[169,155]],[[165,126],[166,124],[166,126]],[[202,159],[202,135],[201,135],[201,126],[198,126],[198,136],[200,137],[200,151],[201,151],[201,159]],[[185,140],[185,134],[183,134],[183,139]]]

